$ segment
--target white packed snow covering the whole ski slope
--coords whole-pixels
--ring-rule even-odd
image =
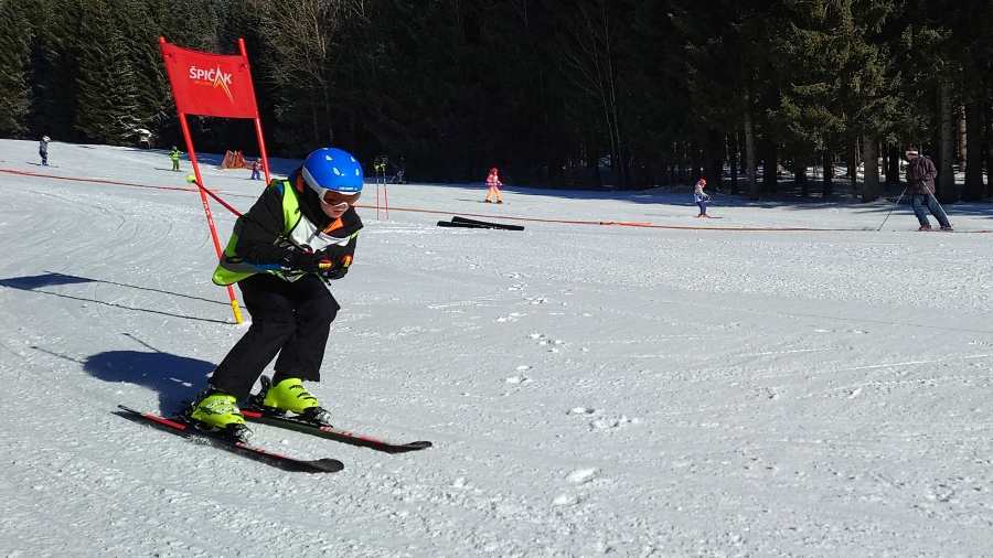
[[[887,219],[896,190],[715,193],[706,221],[685,186],[508,185],[490,205],[482,175],[367,178],[308,387],[338,427],[435,446],[254,427],[264,448],[345,463],[308,474],[117,411],[171,415],[248,326],[210,281],[189,159],[53,141],[49,161],[0,141],[2,556],[993,549],[989,203],[917,233],[906,204]],[[205,186],[247,211],[264,183],[220,162],[201,157]],[[210,206],[226,243],[235,216]],[[457,215],[525,229],[436,225]]]

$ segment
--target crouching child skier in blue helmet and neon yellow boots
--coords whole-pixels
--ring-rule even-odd
[[[331,322],[341,307],[325,287],[349,270],[362,221],[354,204],[363,172],[351,154],[318,149],[285,181],[273,181],[238,217],[213,281],[237,282],[252,326],[227,353],[189,412],[201,427],[250,436],[239,400],[276,358],[271,384],[249,403],[328,423],[303,382],[319,382]]]

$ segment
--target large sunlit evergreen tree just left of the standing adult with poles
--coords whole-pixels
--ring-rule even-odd
[[[776,60],[790,87],[775,111],[778,125],[811,159],[836,139],[850,153],[862,146],[865,181],[862,201],[880,193],[877,146],[897,117],[900,76],[891,60],[885,24],[893,3],[883,0],[784,0],[790,25],[775,40]]]

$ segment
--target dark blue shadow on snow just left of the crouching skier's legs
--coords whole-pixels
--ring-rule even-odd
[[[159,393],[162,412],[192,401],[197,389],[206,387],[206,377],[215,365],[206,361],[169,353],[108,351],[86,360],[83,369],[104,382],[135,384]]]

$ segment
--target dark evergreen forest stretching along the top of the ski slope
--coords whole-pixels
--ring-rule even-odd
[[[159,36],[221,54],[243,37],[270,155],[590,190],[729,165],[751,200],[779,184],[759,169],[853,195],[863,168],[868,202],[915,146],[941,203],[976,201],[991,25],[991,0],[0,0],[0,136],[184,146]],[[190,122],[199,151],[258,154],[249,120]]]

